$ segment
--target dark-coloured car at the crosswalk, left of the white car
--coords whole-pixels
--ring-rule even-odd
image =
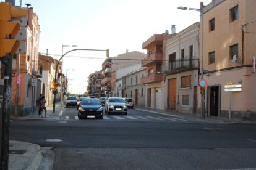
[[[103,107],[99,99],[83,99],[79,106],[78,118],[100,118],[103,119]]]

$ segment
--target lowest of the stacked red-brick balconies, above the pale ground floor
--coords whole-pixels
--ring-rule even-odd
[[[148,73],[142,75],[140,79],[140,83],[142,84],[149,84],[149,83],[158,83],[164,81],[164,74],[163,73]]]

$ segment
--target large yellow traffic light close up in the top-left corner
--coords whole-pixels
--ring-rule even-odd
[[[27,14],[27,9],[12,7],[7,2],[0,3],[0,57],[25,53],[25,42],[19,41],[27,39],[27,30],[20,30],[20,24],[27,25]]]

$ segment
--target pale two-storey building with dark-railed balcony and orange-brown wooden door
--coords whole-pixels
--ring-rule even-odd
[[[199,30],[200,23],[196,22],[179,33],[166,33],[161,67],[161,73],[166,74],[162,96],[166,101],[164,110],[197,113]]]

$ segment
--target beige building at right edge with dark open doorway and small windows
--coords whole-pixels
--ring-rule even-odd
[[[200,60],[208,116],[256,119],[255,9],[255,0],[213,0],[203,8]]]

